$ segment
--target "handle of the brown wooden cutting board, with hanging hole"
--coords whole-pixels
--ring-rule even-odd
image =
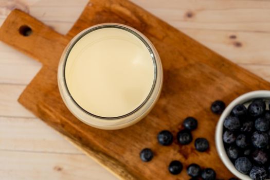
[[[60,40],[62,39],[62,40]],[[0,28],[0,40],[42,62],[58,63],[68,43],[64,35],[20,10],[13,10]]]

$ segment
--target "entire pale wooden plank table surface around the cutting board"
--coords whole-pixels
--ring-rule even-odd
[[[270,81],[270,1],[132,1]],[[18,8],[66,33],[86,3],[0,0],[0,25]],[[40,68],[40,63],[0,42],[0,179],[116,179],[16,101]]]

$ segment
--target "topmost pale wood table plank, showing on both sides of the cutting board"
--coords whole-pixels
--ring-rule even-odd
[[[10,2],[8,6],[7,3],[3,3],[0,10],[2,18],[10,9],[16,7],[29,11],[41,21],[74,22],[87,1]],[[177,28],[259,32],[270,30],[269,1],[169,0],[164,3],[164,0],[133,0],[133,2]]]

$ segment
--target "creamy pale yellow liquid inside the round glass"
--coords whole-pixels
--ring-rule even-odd
[[[119,28],[89,32],[71,49],[65,67],[68,90],[87,112],[118,117],[148,97],[154,63],[146,45]]]

